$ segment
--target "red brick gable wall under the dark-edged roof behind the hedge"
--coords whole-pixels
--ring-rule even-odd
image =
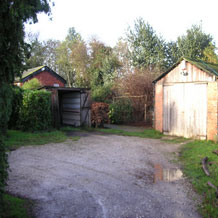
[[[54,84],[59,84],[59,87],[65,86],[61,80],[47,71],[43,71],[33,78],[37,78],[43,86],[54,86]]]

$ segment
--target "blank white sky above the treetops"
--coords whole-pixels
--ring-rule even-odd
[[[63,40],[69,27],[75,27],[87,41],[97,36],[114,46],[128,25],[142,17],[164,39],[176,40],[192,24],[200,24],[218,46],[217,0],[54,0],[52,21],[40,14],[37,24],[26,30],[39,32],[41,40]]]

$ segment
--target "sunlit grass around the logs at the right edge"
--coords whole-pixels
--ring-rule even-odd
[[[204,217],[218,217],[218,199],[215,190],[211,189],[207,182],[210,181],[218,186],[218,156],[213,154],[213,150],[218,149],[218,144],[211,141],[194,141],[185,144],[182,150],[181,160],[184,165],[184,173],[190,178],[194,189],[202,195],[203,202],[200,212]],[[208,177],[202,170],[201,160],[208,157],[214,162],[209,166],[211,176]]]

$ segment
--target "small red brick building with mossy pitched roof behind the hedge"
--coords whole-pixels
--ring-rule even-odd
[[[40,66],[23,72],[20,81],[15,84],[22,86],[25,82],[36,78],[42,86],[65,87],[66,80],[47,66]]]

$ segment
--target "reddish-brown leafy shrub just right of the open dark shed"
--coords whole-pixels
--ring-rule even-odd
[[[91,123],[94,127],[103,127],[109,122],[109,105],[102,102],[95,102],[91,106]]]

